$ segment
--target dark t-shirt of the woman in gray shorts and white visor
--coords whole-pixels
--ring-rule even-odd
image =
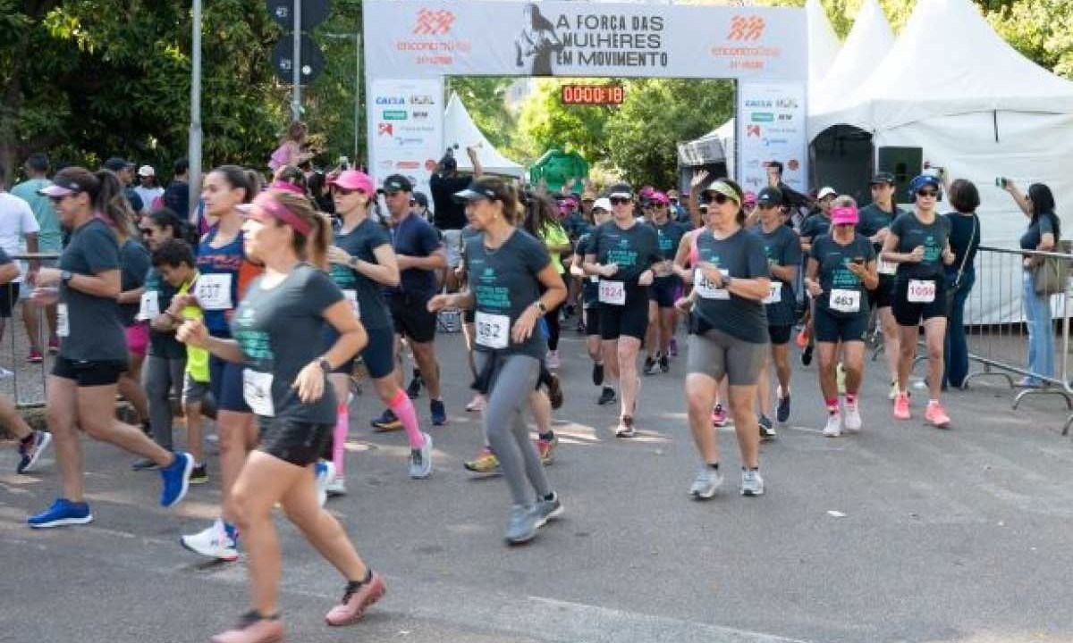
[[[718,266],[732,279],[770,275],[767,258],[764,256],[764,244],[760,237],[744,228],[723,240],[716,239],[710,230],[701,228],[696,233],[695,242],[697,259]],[[726,298],[700,296],[693,312],[712,328],[744,342],[766,344],[768,341],[767,315],[764,304],[759,301],[734,294],[729,294]]]

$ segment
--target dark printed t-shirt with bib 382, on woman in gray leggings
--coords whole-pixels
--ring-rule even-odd
[[[521,344],[514,343],[510,331],[521,313],[540,298],[536,275],[550,263],[544,243],[521,228],[515,228],[495,250],[485,246],[483,235],[470,239],[466,244],[466,273],[470,290],[476,297],[474,347],[477,350],[544,358],[547,343],[539,325]]]

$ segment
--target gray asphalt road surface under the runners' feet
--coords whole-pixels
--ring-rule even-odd
[[[350,494],[329,502],[387,596],[362,624],[328,629],[341,580],[280,520],[290,641],[1073,641],[1073,442],[1059,435],[1059,398],[1013,412],[1000,380],[979,379],[947,397],[952,430],[923,424],[920,395],[914,419],[894,423],[883,369],[869,363],[864,431],[829,439],[814,367],[795,361],[791,427],[763,447],[767,494],[738,495],[731,475],[697,503],[686,494],[685,359],[644,378],[642,434],[620,440],[615,412],[593,403],[580,337],[564,331],[549,476],[567,513],[508,548],[505,484],[461,467],[481,446],[479,418],[462,409],[461,341],[440,344],[451,423],[431,431],[433,477],[407,477],[401,433],[368,430],[380,408],[366,392]],[[427,398],[418,409],[427,418]],[[729,431],[722,446],[736,472]],[[166,511],[156,474],[131,460],[87,443],[97,522],[44,533],[24,521],[56,495],[55,465],[0,475],[0,642],[206,641],[245,610],[240,563],[206,565],[177,543],[215,515],[216,480]],[[14,464],[0,449],[0,470]]]

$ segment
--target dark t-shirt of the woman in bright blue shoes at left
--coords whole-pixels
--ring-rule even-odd
[[[101,219],[91,219],[71,233],[60,255],[60,270],[75,274],[95,275],[118,268],[119,242]],[[127,335],[114,297],[89,295],[61,282],[60,304],[67,306],[70,331],[60,342],[60,357],[73,361],[127,361]]]

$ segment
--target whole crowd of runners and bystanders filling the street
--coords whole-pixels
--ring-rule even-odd
[[[0,399],[0,422],[19,439],[18,472],[36,468],[49,447],[60,470],[61,496],[28,523],[93,520],[78,430],[137,455],[135,469],[158,470],[161,505],[177,505],[190,484],[208,481],[202,416],[211,407],[223,502],[212,524],[179,540],[227,562],[238,559],[241,542],[251,585],[250,611],[215,641],[282,637],[277,505],[343,575],[328,625],[358,620],[384,595],[383,578],[323,509],[326,497],[346,493],[355,369],[384,406],[372,427],[405,431],[408,474],[428,478],[432,437],[414,399],[424,388],[430,424],[446,423],[435,339],[458,311],[475,393],[466,409],[482,414],[484,440],[466,467],[502,474],[510,543],[531,540],[563,511],[544,465],[558,444],[550,418],[562,404],[559,337],[575,317],[593,398],[618,403],[615,434],[623,439],[637,433],[643,376],[667,373],[686,353],[684,394],[699,457],[688,491],[695,498],[712,497],[722,483],[714,425],[730,422],[743,463],[739,491],[764,494],[759,443],[791,417],[797,326],[803,361],[813,350],[818,358],[825,436],[865,424],[858,391],[865,343],[877,327],[893,417],[913,413],[908,378],[923,325],[924,418],[951,424],[942,390],[960,386],[967,364],[956,333],[947,337],[947,318],[971,288],[980,243],[980,199],[969,181],[922,175],[911,194],[896,195],[894,177],[879,174],[871,204],[858,208],[832,188],[814,196],[791,190],[773,161],[768,185],[756,194],[705,173],[681,198],[624,182],[599,193],[588,184],[575,192],[571,182],[549,194],[486,176],[470,149],[472,176],[459,175],[450,151],[440,161],[430,212],[430,199],[405,176],[377,185],[347,167],[311,171],[304,137],[300,123],[292,128],[273,154],[269,180],[233,165],[212,169],[189,215],[186,200],[176,200],[181,186],[172,198],[161,191],[135,207],[122,160],[97,171],[64,167],[47,179],[47,161],[35,156],[27,164],[36,173],[32,190],[21,191],[39,221],[38,210],[54,212],[63,236],[58,263],[34,264],[27,278],[32,304],[55,311],[48,432],[32,430]],[[152,177],[146,167],[138,174]],[[1023,246],[1054,248],[1053,199],[1048,207],[1008,189],[1031,220]],[[955,210],[945,215],[937,211],[943,190]],[[910,197],[912,209],[895,206],[896,196]],[[0,283],[20,272],[0,249]],[[684,348],[679,324],[689,331]],[[30,359],[39,359],[32,350]],[[407,387],[405,352],[414,363]],[[173,444],[173,391],[181,391],[186,450]],[[115,419],[117,392],[142,427]]]

